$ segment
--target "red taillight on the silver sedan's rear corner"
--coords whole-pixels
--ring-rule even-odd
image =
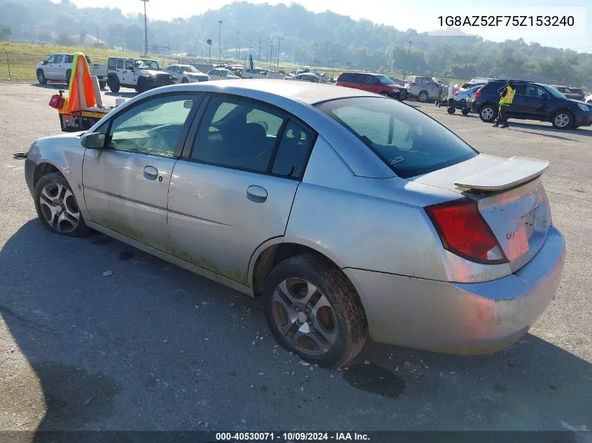
[[[508,259],[472,199],[453,200],[426,206],[444,249],[473,262],[494,265]]]

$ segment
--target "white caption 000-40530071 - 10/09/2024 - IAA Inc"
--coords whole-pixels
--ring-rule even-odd
[[[369,442],[364,433],[216,433],[216,442]]]

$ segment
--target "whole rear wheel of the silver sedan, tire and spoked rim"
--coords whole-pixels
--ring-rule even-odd
[[[362,350],[368,324],[352,283],[312,254],[280,262],[263,287],[264,309],[277,342],[322,367],[346,365]]]

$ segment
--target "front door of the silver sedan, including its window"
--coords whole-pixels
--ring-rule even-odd
[[[84,199],[90,220],[160,251],[170,251],[167,196],[199,94],[160,94],[110,118],[105,148],[87,149]]]

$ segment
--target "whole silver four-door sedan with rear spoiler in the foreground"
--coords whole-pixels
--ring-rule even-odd
[[[368,337],[490,353],[553,299],[541,174],[385,97],[283,80],[160,87],[31,146],[41,223],[103,232],[247,295],[275,339],[339,367]]]

